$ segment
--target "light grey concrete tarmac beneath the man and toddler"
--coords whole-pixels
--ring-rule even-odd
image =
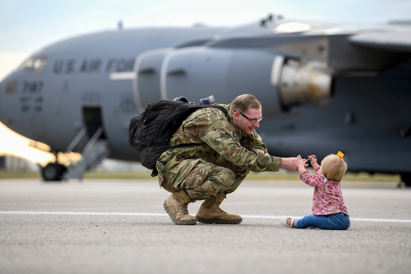
[[[342,191],[348,230],[279,223],[312,214],[300,180],[243,182],[221,205],[238,225],[177,226],[155,180],[1,180],[0,273],[410,273],[411,188]]]

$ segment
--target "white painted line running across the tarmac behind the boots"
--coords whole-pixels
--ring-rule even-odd
[[[69,211],[0,211],[0,214],[52,214],[52,215],[127,215],[127,216],[169,216],[166,213],[137,213],[137,212],[69,212]],[[243,218],[280,219],[281,216],[270,215],[242,215]],[[301,219],[303,216],[289,216]],[[370,219],[350,218],[351,221],[365,222],[388,222],[388,223],[411,223],[411,220],[402,219]]]

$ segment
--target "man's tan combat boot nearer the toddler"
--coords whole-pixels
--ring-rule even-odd
[[[228,214],[220,208],[221,202],[226,198],[225,193],[220,193],[204,200],[196,214],[200,223],[241,223],[242,217],[236,214]]]

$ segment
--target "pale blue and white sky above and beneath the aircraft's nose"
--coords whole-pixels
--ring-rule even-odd
[[[194,23],[235,26],[270,13],[325,23],[384,23],[411,20],[411,1],[0,0],[0,81],[44,46],[76,35],[115,29],[119,20],[124,28]],[[4,130],[0,124],[0,144],[5,138],[13,138]],[[19,144],[16,150],[25,146],[22,144],[26,141],[18,143],[21,141],[17,136],[15,140]],[[1,153],[5,148],[0,146]]]

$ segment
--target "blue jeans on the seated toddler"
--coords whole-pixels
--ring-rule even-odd
[[[314,228],[346,230],[350,227],[350,217],[344,212],[338,212],[328,215],[308,215],[302,219],[294,221],[295,228]]]

